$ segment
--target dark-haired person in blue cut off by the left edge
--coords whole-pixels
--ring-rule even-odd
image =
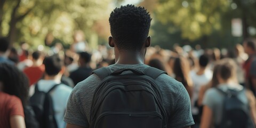
[[[7,52],[9,50],[9,47],[10,47],[10,42],[8,41],[8,39],[5,37],[0,37],[0,63],[6,62],[14,65],[14,62],[12,62],[7,58],[8,57]]]

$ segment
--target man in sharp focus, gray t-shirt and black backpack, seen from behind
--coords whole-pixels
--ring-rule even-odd
[[[188,92],[164,71],[144,64],[150,14],[125,5],[110,14],[109,46],[115,64],[93,71],[70,94],[64,121],[70,127],[190,127]]]

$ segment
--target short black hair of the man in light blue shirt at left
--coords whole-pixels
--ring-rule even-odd
[[[45,73],[49,76],[55,76],[60,73],[63,61],[58,54],[54,54],[50,57],[45,57],[43,64],[45,66]]]

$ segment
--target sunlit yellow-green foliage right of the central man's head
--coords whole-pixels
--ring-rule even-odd
[[[229,6],[229,1],[222,0],[160,1],[156,15],[162,23],[172,22],[178,26],[182,38],[195,41],[221,29],[221,14]]]

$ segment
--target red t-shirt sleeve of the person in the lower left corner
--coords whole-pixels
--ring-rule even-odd
[[[20,115],[25,117],[22,102],[18,97],[12,97],[9,100],[9,110],[10,110],[10,116]]]

